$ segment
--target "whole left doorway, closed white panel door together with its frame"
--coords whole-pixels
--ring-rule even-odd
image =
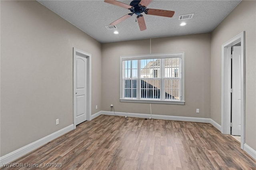
[[[91,120],[91,55],[73,48],[73,121]]]

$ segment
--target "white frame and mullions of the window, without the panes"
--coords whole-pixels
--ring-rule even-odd
[[[174,58],[179,56],[181,58],[181,64],[180,64],[180,76],[181,76],[181,82],[180,82],[180,101],[173,101],[173,100],[166,100],[164,99],[164,95],[162,95],[161,99],[140,99],[140,62],[138,64],[138,75],[137,75],[137,99],[127,99],[123,97],[124,94],[124,88],[123,88],[123,61],[126,60],[141,60],[141,59],[155,59],[155,58]],[[162,67],[162,71],[160,72],[160,75],[164,71],[164,68]],[[184,88],[184,52],[178,52],[178,53],[160,53],[160,54],[147,54],[147,55],[125,55],[120,56],[120,102],[132,102],[132,103],[160,103],[160,104],[176,104],[176,105],[184,105],[185,104],[185,88]],[[161,76],[162,77],[162,76]],[[162,79],[162,78],[161,78]],[[161,86],[161,89],[163,89],[163,83]]]

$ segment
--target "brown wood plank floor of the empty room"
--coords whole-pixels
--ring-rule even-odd
[[[240,143],[211,124],[106,115],[14,163],[62,163],[60,169],[79,170],[256,170]]]

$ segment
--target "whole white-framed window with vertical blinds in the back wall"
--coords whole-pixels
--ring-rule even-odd
[[[120,101],[184,104],[184,53],[122,56]]]

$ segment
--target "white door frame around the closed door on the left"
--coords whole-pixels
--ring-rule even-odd
[[[90,53],[86,53],[80,49],[77,49],[73,47],[73,123],[74,123],[74,129],[76,128],[76,113],[75,113],[75,75],[76,75],[76,67],[75,67],[75,61],[76,61],[76,53],[79,53],[80,55],[87,58],[87,113],[86,118],[87,121],[91,120],[91,113],[92,113],[92,55]]]

